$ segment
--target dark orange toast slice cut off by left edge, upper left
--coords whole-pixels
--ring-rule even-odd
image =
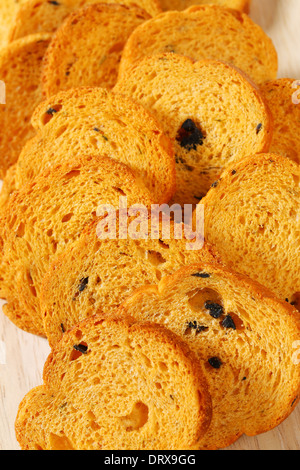
[[[25,142],[35,135],[30,119],[42,101],[42,60],[48,34],[14,41],[0,51],[0,79],[6,85],[6,104],[0,105],[0,178],[6,174]]]

